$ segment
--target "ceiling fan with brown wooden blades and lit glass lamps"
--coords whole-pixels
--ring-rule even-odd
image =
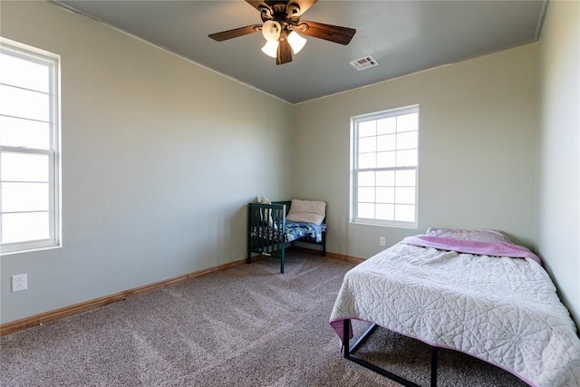
[[[208,36],[215,41],[223,42],[262,31],[267,41],[262,51],[274,57],[276,64],[292,62],[292,53],[298,53],[304,47],[306,40],[297,33],[338,44],[349,44],[356,33],[353,28],[300,20],[300,16],[317,1],[246,0],[247,4],[260,12],[263,24],[247,25]]]

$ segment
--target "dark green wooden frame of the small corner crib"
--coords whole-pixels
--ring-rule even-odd
[[[252,236],[253,227],[260,228],[266,235],[275,235],[278,230],[286,228],[286,214],[290,210],[291,200],[273,201],[272,204],[248,203],[247,206],[247,264],[252,263],[252,253],[262,256],[278,256],[280,258],[280,273],[284,274],[285,266],[285,246],[284,233],[278,233],[277,238]],[[264,220],[265,210],[269,211],[272,223]],[[326,222],[326,218],[324,218]],[[320,243],[311,241],[308,238],[300,238],[296,242],[311,243],[322,246],[322,255],[326,256],[326,231],[323,231],[323,240]],[[290,242],[294,247],[294,241]]]

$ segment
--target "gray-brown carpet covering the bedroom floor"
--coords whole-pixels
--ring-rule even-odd
[[[328,319],[352,264],[288,252],[1,339],[2,386],[396,386],[344,360]],[[361,333],[365,324],[354,324]],[[358,352],[421,385],[429,347],[379,329]],[[524,386],[440,350],[440,386]]]

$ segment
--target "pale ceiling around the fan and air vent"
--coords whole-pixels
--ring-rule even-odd
[[[261,23],[243,0],[60,0],[60,5],[139,36],[290,103],[344,92],[538,39],[547,0],[330,1],[302,16],[356,29],[349,45],[308,37],[291,63],[260,51],[262,34],[215,42],[208,34]],[[362,72],[349,62],[372,55]]]

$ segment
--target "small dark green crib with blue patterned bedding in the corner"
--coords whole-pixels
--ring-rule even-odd
[[[292,199],[270,201],[261,198],[249,203],[247,211],[247,263],[252,255],[280,258],[284,274],[285,249],[288,244],[304,242],[321,247],[326,255],[326,203],[320,200]]]

